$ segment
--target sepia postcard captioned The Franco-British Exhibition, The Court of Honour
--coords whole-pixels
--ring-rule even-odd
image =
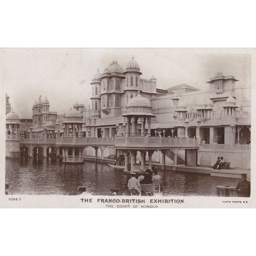
[[[245,48],[0,49],[0,208],[255,208],[255,70]]]

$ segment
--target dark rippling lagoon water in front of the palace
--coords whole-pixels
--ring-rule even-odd
[[[159,170],[164,196],[216,196],[217,185],[237,185],[237,179]],[[110,188],[127,189],[129,176],[107,164],[65,165],[61,159],[6,159],[8,194],[77,195],[86,186],[93,195],[110,195]]]

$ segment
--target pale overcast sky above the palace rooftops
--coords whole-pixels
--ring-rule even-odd
[[[249,49],[45,48],[1,49],[0,80],[20,118],[31,118],[39,95],[50,101],[50,111],[67,111],[73,103],[90,104],[91,79],[111,61],[124,69],[134,55],[142,78],[155,75],[157,88],[181,83],[207,89],[209,78],[222,71],[250,86]]]

